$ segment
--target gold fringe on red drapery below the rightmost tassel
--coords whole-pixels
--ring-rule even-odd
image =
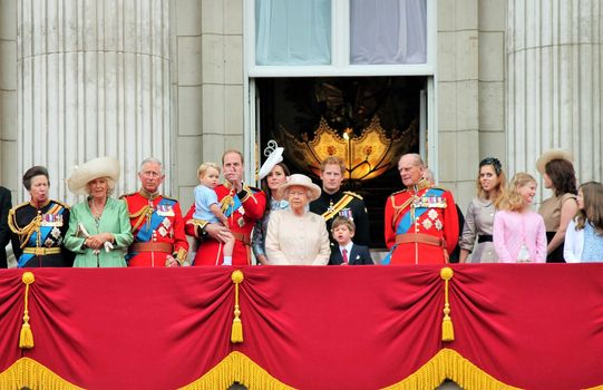
[[[436,389],[445,379],[450,379],[467,390],[518,389],[494,379],[477,365],[463,358],[457,351],[448,348],[440,350],[411,376],[385,389]]]

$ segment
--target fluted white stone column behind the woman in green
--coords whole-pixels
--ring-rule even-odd
[[[71,203],[75,165],[118,158],[123,193],[154,156],[169,193],[169,0],[19,0],[17,19],[19,175],[46,165],[51,197]]]

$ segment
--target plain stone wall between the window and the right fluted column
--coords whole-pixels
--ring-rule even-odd
[[[479,160],[505,164],[505,20],[502,1],[438,1],[438,176],[463,212]]]

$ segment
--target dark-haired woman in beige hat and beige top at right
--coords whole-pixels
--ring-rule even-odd
[[[564,150],[548,150],[536,162],[536,169],[543,175],[544,187],[553,191],[553,196],[543,201],[538,208],[546,226],[546,262],[564,263],[565,232],[578,209],[572,155]]]

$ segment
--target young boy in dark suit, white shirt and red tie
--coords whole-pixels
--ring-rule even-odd
[[[333,221],[332,235],[338,245],[332,247],[329,265],[366,265],[375,264],[368,246],[352,242],[356,225],[351,220],[338,216]]]

